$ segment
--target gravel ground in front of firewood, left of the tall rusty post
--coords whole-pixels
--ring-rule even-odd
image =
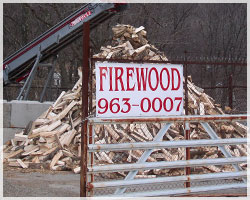
[[[4,170],[4,197],[79,197],[80,175],[72,172]]]

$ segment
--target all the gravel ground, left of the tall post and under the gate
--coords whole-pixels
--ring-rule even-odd
[[[225,181],[233,183],[238,181]],[[161,184],[144,186],[144,190],[155,190],[165,188],[180,188],[183,184]],[[219,184],[211,182],[210,184]],[[222,184],[222,182],[220,182]],[[172,187],[171,187],[172,185]],[[203,182],[198,185],[209,185]],[[195,184],[195,186],[197,186]],[[143,187],[143,186],[142,186]],[[140,188],[142,189],[142,188]],[[136,192],[136,188],[128,189]],[[113,190],[104,189],[96,191],[96,195],[108,195]],[[99,194],[98,194],[99,193]],[[240,194],[246,195],[246,189],[209,192],[207,194]],[[80,175],[72,172],[51,172],[42,170],[24,170],[5,167],[3,176],[4,197],[79,197],[80,196]],[[220,196],[220,195],[219,195]]]

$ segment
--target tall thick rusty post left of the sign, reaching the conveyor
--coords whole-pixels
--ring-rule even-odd
[[[83,25],[83,66],[82,66],[82,127],[81,127],[81,175],[80,197],[87,196],[87,117],[89,83],[89,22]]]

